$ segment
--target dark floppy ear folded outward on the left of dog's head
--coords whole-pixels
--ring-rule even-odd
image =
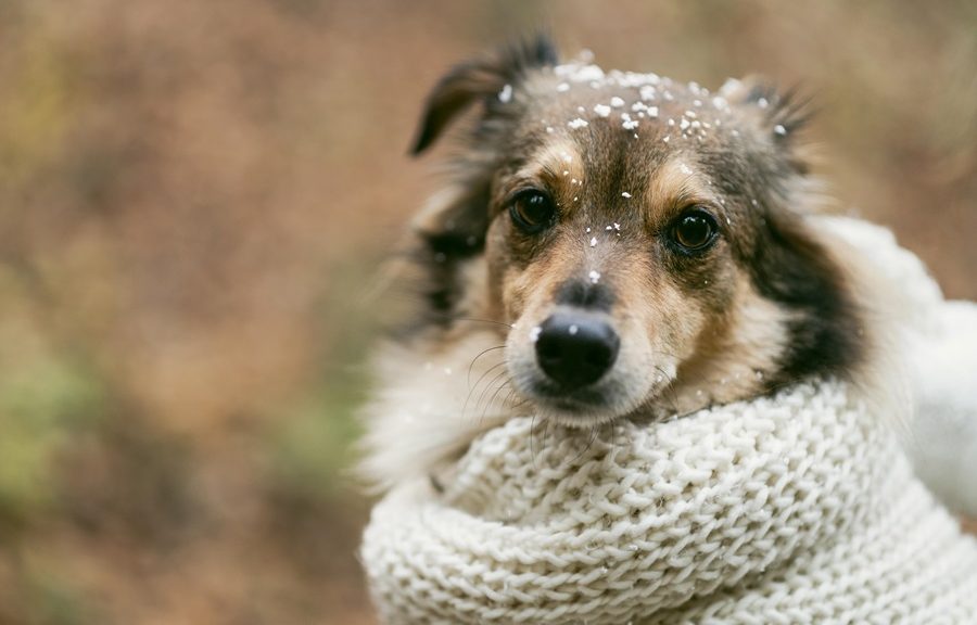
[[[508,101],[511,89],[528,71],[557,62],[556,48],[546,35],[540,34],[493,55],[456,65],[428,95],[411,154],[427,150],[452,119],[475,100],[486,102],[486,110],[490,98]],[[508,92],[504,92],[507,86]]]

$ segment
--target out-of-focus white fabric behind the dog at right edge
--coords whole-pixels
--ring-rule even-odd
[[[867,276],[889,281],[893,346],[912,393],[906,449],[926,485],[952,510],[977,516],[977,304],[946,301],[922,260],[879,226],[819,217],[864,252]]]

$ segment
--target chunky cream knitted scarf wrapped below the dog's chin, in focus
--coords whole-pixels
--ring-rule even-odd
[[[443,493],[376,506],[381,621],[977,623],[977,541],[861,397],[815,381],[591,436],[512,419]]]

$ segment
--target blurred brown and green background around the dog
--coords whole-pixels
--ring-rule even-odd
[[[821,109],[842,206],[977,297],[977,3],[0,0],[0,623],[372,623],[365,296],[453,63],[564,53]]]

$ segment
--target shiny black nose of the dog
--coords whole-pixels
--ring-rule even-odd
[[[589,316],[557,312],[540,327],[536,360],[564,388],[586,386],[607,373],[621,340],[608,323]]]

